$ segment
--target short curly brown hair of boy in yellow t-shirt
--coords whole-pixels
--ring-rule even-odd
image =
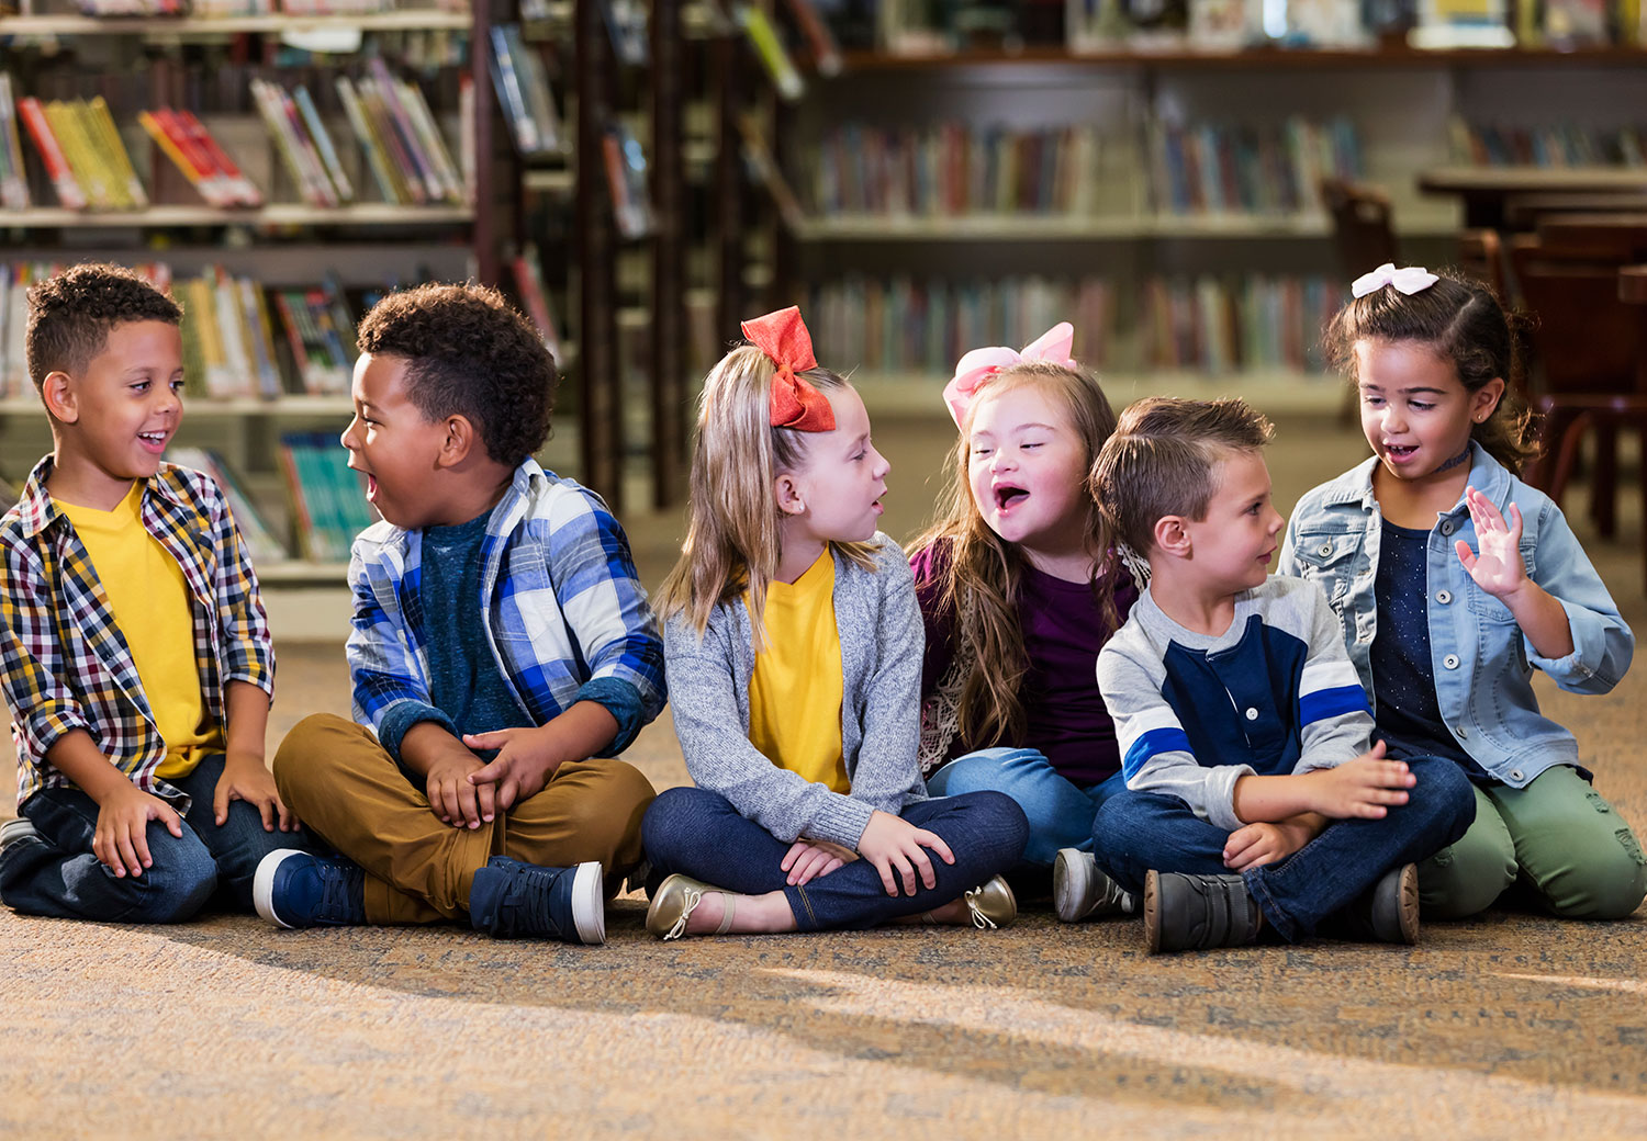
[[[35,389],[41,390],[53,372],[84,372],[109,344],[110,329],[128,321],[181,324],[183,310],[132,270],[104,262],[76,265],[31,286],[25,354]]]

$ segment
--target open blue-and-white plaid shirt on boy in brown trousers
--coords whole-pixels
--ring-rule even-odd
[[[422,530],[379,522],[356,537],[349,560],[354,720],[395,759],[418,721],[458,736],[432,705],[422,550]],[[628,747],[664,708],[664,642],[629,540],[601,499],[527,459],[492,507],[481,560],[486,640],[532,723],[600,701],[618,720],[604,752]]]

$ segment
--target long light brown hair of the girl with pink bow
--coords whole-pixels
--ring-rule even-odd
[[[934,718],[931,710],[924,710],[922,738],[929,738],[932,731],[959,733],[968,747],[1024,739],[1028,726],[1018,693],[1029,670],[1023,626],[1018,619],[1024,557],[1013,543],[990,530],[972,497],[968,477],[970,425],[978,405],[1024,385],[1036,385],[1066,410],[1069,425],[1085,446],[1080,468],[1084,473],[1115,431],[1115,412],[1099,382],[1087,372],[1046,361],[1026,361],[1001,370],[972,402],[960,425],[960,440],[955,443],[942,514],[909,545],[911,553],[934,548],[932,565],[940,573],[937,608],[954,616],[955,660],[939,682],[939,688],[947,690],[957,706],[955,724],[929,724]],[[1113,626],[1120,561],[1099,505],[1090,499],[1082,535],[1092,555],[1094,598]],[[935,695],[929,695],[927,705],[934,700]],[[947,718],[937,718],[944,720]],[[947,741],[932,746],[922,739],[922,761],[929,761],[927,754],[934,747],[945,746]]]

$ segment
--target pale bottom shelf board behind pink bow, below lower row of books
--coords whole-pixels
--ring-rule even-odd
[[[944,384],[949,377],[929,372],[875,372],[860,369],[851,384],[871,415],[931,415],[947,418]],[[1252,370],[1206,372],[1099,372],[1099,384],[1120,412],[1141,397],[1184,397],[1211,400],[1242,397],[1267,415],[1331,415],[1344,405],[1344,382],[1336,375],[1308,372]]]

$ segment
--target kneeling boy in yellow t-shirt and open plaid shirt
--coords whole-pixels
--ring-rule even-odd
[[[264,766],[275,659],[221,489],[161,461],[183,417],[181,311],[114,265],[28,295],[53,453],[0,520],[0,665],[21,820],[0,899],[36,915],[178,922],[252,907],[306,846]],[[288,833],[288,835],[282,835]]]

